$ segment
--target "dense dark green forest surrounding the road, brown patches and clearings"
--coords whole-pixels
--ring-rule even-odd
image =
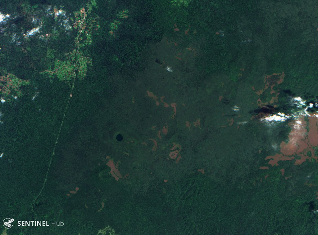
[[[205,128],[202,124],[201,129],[184,131],[183,120],[179,121],[176,117],[175,125],[169,129],[169,133],[174,131],[174,135],[169,138],[186,144],[183,145],[182,160],[178,163],[181,167],[174,171],[166,168],[165,171],[164,164],[159,164],[162,162],[157,160],[165,157],[151,150],[146,153],[140,150],[140,142],[152,138],[143,133],[149,132],[153,123],[146,119],[141,121],[142,124],[130,121],[139,115],[146,117],[145,113],[147,117],[155,116],[154,104],[146,112],[145,109],[150,106],[129,110],[130,106],[124,103],[127,100],[129,104],[132,103],[131,96],[136,96],[131,92],[134,89],[144,89],[137,90],[141,93],[140,103],[144,102],[142,97],[146,90],[155,89],[152,86],[155,79],[149,76],[143,80],[143,72],[149,70],[156,59],[149,48],[153,49],[151,46],[164,37],[180,39],[173,31],[175,23],[181,34],[189,24],[197,31],[196,35],[191,34],[180,40],[184,47],[193,44],[198,51],[195,68],[199,76],[195,79],[199,85],[196,89],[203,87],[204,79],[215,73],[229,77],[232,88],[250,88],[255,84],[262,87],[264,75],[284,71],[286,77],[283,89],[308,98],[316,97],[318,32],[315,3],[176,2],[180,4],[171,1],[97,1],[97,8],[92,10],[92,15],[94,19],[96,17],[100,28],[92,32],[92,43],[85,44],[85,50],[76,54],[77,57],[68,53],[79,47],[75,40],[78,31],[54,31],[49,26],[54,24],[50,18],[43,18],[46,30],[52,30],[52,37],[47,42],[29,38],[17,46],[10,43],[10,37],[1,35],[1,66],[17,77],[30,80],[31,84],[22,89],[23,96],[17,102],[13,100],[11,104],[0,104],[0,110],[4,113],[1,117],[4,124],[0,125],[0,153],[4,152],[0,159],[0,218],[35,218],[31,204],[44,183],[52,148],[70,96],[70,79],[63,77],[63,72],[69,73],[69,70],[59,70],[59,74],[50,77],[41,72],[65,68],[72,60],[83,66],[80,63],[83,57],[89,57],[91,62],[90,65],[86,60],[86,77],[77,77],[78,80],[75,80],[73,98],[52,160],[52,169],[43,192],[34,204],[38,220],[62,221],[64,226],[19,228],[15,224],[7,231],[8,235],[96,235],[107,225],[116,234],[122,235],[317,234],[318,215],[314,214],[318,209],[315,199],[317,187],[304,185],[307,180],[318,185],[317,163],[306,162],[299,168],[293,168],[289,171],[293,175],[289,181],[281,176],[278,167],[266,172],[258,170],[260,165],[264,165],[266,154],[274,154],[272,144],[287,138],[287,125],[278,127],[279,131],[271,134],[272,143],[264,134],[264,127],[259,127],[256,122],[246,129],[240,127],[239,131],[243,131],[243,134],[238,136],[233,134],[234,131],[220,131],[219,126],[224,123],[218,124],[218,128]],[[79,11],[86,3],[76,3],[75,6],[73,2],[52,1],[50,4],[64,5],[69,13]],[[0,6],[3,13],[18,12],[23,15],[24,18],[18,23],[22,24],[21,27],[28,27],[28,19],[37,9],[35,6],[39,8],[41,4],[17,1],[14,7],[2,3]],[[128,18],[121,19],[119,12],[126,9]],[[112,36],[109,30],[114,20],[121,20],[121,24]],[[220,30],[224,31],[224,36]],[[63,64],[57,60],[71,62]],[[242,68],[244,72],[240,70]],[[164,74],[163,77],[167,78],[168,75]],[[182,83],[180,77],[168,77],[168,81],[162,78],[164,88],[157,88],[158,93],[162,91],[160,89],[171,89],[176,96],[184,95],[176,91],[179,87],[167,85],[175,80]],[[220,86],[220,82],[213,81],[211,86]],[[184,84],[184,87],[187,89],[190,85]],[[37,91],[39,95],[32,101]],[[233,88],[229,96],[239,96],[234,94],[236,92]],[[202,101],[200,95],[192,99],[204,103],[205,97]],[[244,102],[250,104],[255,100],[254,97],[247,97]],[[287,95],[281,97],[278,105],[282,106],[287,101]],[[218,99],[206,102],[208,115],[200,113],[202,123],[204,120],[210,120],[210,123],[215,121],[213,109],[219,103],[214,102],[218,102]],[[180,101],[178,107],[181,104]],[[165,113],[160,115],[158,119],[162,117],[163,120]],[[116,131],[123,131],[123,142],[126,142],[127,136],[131,136],[129,140],[137,143],[131,144],[129,149],[112,142]],[[202,132],[199,131],[204,134],[200,135]],[[242,148],[235,147],[244,145],[244,141],[250,142],[251,137],[259,145],[246,144],[244,152]],[[211,143],[220,143],[219,146],[216,144],[219,149],[210,149]],[[167,146],[162,144],[159,149],[169,149]],[[259,148],[266,150],[257,155]],[[130,151],[130,156],[121,158],[119,169],[123,175],[129,172],[130,178],[116,182],[108,174],[110,168],[106,165],[105,157],[110,155],[117,162],[120,154],[126,151]],[[156,160],[149,166],[144,159],[152,155]],[[202,165],[192,168],[192,164],[198,161],[191,157],[202,158]],[[219,165],[212,165],[211,159],[219,157],[222,159]],[[187,162],[187,159],[191,160]],[[213,160],[213,164],[215,162]],[[289,165],[283,163],[283,167],[288,169]],[[208,168],[210,171],[206,170],[202,175],[197,172],[198,168]],[[267,174],[269,176],[265,180]],[[163,183],[166,176],[169,181]],[[79,191],[71,197],[66,196],[75,187],[79,187]]]

